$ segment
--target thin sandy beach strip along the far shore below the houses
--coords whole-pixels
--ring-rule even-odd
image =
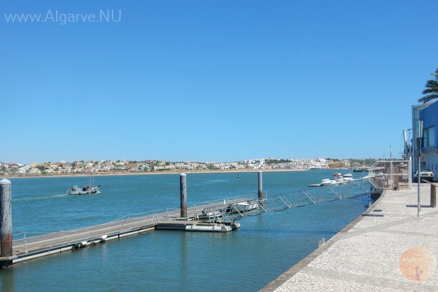
[[[112,175],[155,175],[155,174],[180,174],[180,173],[240,173],[240,172],[276,172],[276,171],[308,171],[308,169],[223,169],[223,170],[165,170],[154,172],[110,172],[110,173],[93,173],[93,176],[112,176]],[[82,177],[89,176],[90,173],[67,173],[67,174],[23,174],[23,175],[3,175],[0,178],[3,179],[21,179],[21,178],[60,178],[60,177]]]

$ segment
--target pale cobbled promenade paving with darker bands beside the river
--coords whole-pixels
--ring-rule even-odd
[[[384,191],[362,216],[264,287],[286,291],[438,291],[438,208],[430,185]]]

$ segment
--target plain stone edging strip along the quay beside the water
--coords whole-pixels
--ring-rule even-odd
[[[351,228],[354,227],[360,220],[364,218],[363,215],[369,214],[376,205],[383,199],[385,196],[385,192],[383,191],[382,195],[379,199],[377,199],[368,209],[365,210],[364,213],[359,215],[358,218],[351,221],[350,224],[348,224],[344,229],[339,231],[337,234],[335,234],[333,237],[331,237],[328,241],[326,241],[325,244],[318,247],[314,252],[312,252],[309,256],[306,256],[302,260],[300,260],[297,264],[295,264],[292,268],[290,268],[288,271],[284,272],[280,276],[278,276],[274,281],[263,287],[260,292],[273,292],[275,289],[283,285],[287,280],[292,278],[292,276],[298,272],[300,272],[302,269],[304,269],[308,264],[310,264],[311,261],[313,261],[315,258],[317,258],[319,255],[321,255],[323,252],[325,252],[333,243],[335,243],[340,237],[342,237],[344,234],[346,234]]]

